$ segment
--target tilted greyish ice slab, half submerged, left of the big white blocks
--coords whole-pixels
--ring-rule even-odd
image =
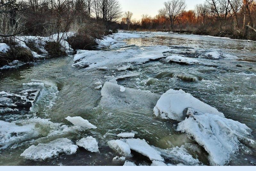
[[[158,94],[130,88],[125,88],[125,92],[120,92],[120,85],[111,82],[105,82],[101,95],[101,106],[131,109],[141,108],[141,106],[153,108],[160,98]]]

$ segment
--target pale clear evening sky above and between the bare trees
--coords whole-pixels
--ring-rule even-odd
[[[133,13],[132,19],[141,19],[142,14],[149,14],[152,17],[158,14],[158,10],[163,8],[163,3],[167,0],[119,0],[123,12]],[[186,0],[186,10],[193,10],[196,4],[201,4],[205,0]]]

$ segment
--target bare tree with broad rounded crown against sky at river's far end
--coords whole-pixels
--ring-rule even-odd
[[[183,15],[185,8],[185,0],[170,0],[164,3],[164,8],[159,10],[159,14],[170,21],[171,29],[173,29],[175,21]]]

